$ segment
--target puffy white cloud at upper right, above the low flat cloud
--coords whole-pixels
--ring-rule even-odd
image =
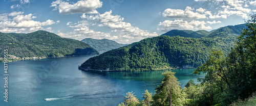
[[[162,15],[168,18],[188,18],[188,19],[200,19],[206,18],[205,14],[200,14],[198,12],[202,12],[202,8],[196,10],[198,12],[193,12],[193,8],[186,7],[185,10],[180,9],[166,9],[163,11]]]

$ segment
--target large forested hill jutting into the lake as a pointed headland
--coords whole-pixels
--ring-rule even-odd
[[[146,38],[90,58],[80,69],[146,71],[198,67],[206,62],[212,48],[222,49],[228,54],[237,32],[243,27],[245,24],[226,26],[202,38],[165,35]]]

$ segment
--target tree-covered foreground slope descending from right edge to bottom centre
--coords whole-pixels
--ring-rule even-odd
[[[190,80],[181,90],[171,71],[162,73],[162,84],[156,88],[149,105],[255,105],[256,92],[256,15],[251,15],[237,43],[226,56],[212,49],[207,62],[193,73],[206,73],[195,85]],[[145,98],[144,100],[148,100]],[[144,101],[142,100],[142,101]],[[124,100],[125,101],[125,100]],[[144,105],[136,100],[132,105]],[[130,102],[134,102],[131,100]],[[121,103],[131,105],[130,103]]]

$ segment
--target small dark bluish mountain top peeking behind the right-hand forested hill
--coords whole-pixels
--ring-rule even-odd
[[[190,37],[190,38],[202,38],[207,35],[209,35],[210,32],[205,30],[199,30],[199,31],[191,31],[191,30],[171,30],[163,35],[166,36],[181,36],[181,37]]]

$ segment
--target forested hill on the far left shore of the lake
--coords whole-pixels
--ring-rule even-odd
[[[98,55],[99,52],[90,45],[78,40],[61,38],[46,31],[28,34],[0,33],[1,57],[8,48],[9,55],[25,57],[59,57],[73,55]]]

